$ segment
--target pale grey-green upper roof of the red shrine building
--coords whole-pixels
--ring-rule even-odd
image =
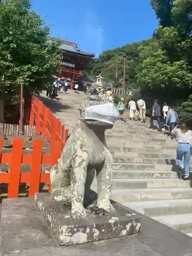
[[[62,39],[58,39],[58,38],[53,38],[53,37],[52,37],[52,40],[59,40],[61,42],[61,45],[59,46],[59,50],[61,50],[61,51],[67,51],[67,52],[87,55],[87,56],[90,56],[90,57],[95,57],[94,53],[88,53],[88,52],[80,51],[79,48],[78,48],[78,44],[76,44],[75,42],[70,42],[70,41],[66,41],[66,40],[62,40]]]

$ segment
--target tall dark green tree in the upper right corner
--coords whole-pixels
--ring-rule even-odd
[[[152,6],[159,18],[158,50],[138,66],[138,83],[143,95],[185,101],[192,93],[192,2],[153,0]]]

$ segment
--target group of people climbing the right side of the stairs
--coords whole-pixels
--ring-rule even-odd
[[[124,103],[123,98],[121,98],[118,105],[120,115],[124,115]],[[137,111],[137,107],[139,111]],[[139,99],[137,104],[134,100],[130,100],[128,103],[128,109],[130,111],[130,120],[135,120],[135,113],[139,112],[139,120],[145,122],[146,115],[146,105],[143,99]],[[158,100],[154,100],[154,104],[151,110],[150,123],[151,129],[155,129],[154,120],[157,120],[158,131],[168,130],[170,136],[176,139],[178,142],[177,147],[177,163],[181,170],[181,178],[183,180],[188,180],[189,178],[189,167],[190,158],[192,154],[192,131],[188,128],[187,120],[179,120],[176,110],[172,106],[168,106],[164,102],[163,107],[158,103]]]

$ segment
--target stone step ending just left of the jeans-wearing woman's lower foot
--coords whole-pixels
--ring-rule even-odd
[[[113,179],[176,179],[177,172],[168,170],[113,170]]]

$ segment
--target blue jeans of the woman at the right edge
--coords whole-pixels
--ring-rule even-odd
[[[183,157],[184,157],[184,163],[183,163]],[[177,147],[177,163],[179,166],[184,166],[184,174],[187,176],[189,176],[190,157],[191,157],[191,145],[179,143]]]

